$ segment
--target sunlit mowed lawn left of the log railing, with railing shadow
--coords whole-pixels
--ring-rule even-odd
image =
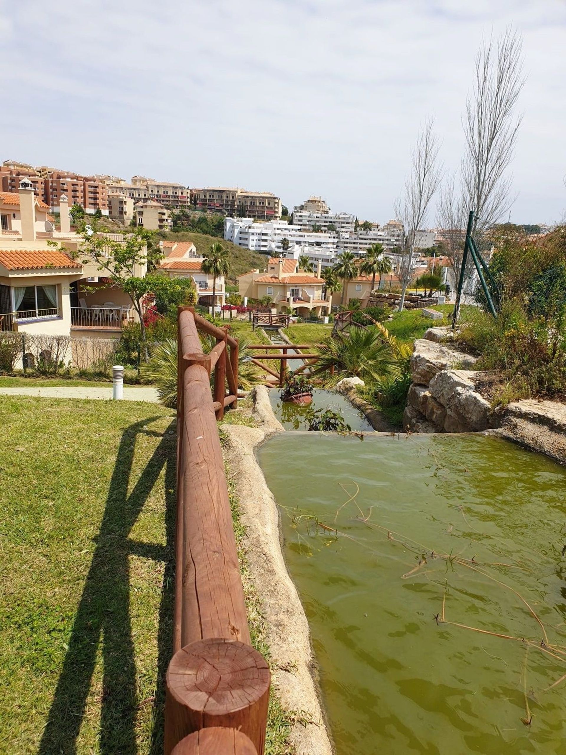
[[[0,752],[162,752],[172,420],[0,396]]]

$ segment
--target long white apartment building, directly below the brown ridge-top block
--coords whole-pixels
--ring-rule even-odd
[[[252,217],[226,217],[224,239],[263,254],[283,251],[283,239],[288,240],[290,249],[299,245],[334,251],[338,244],[338,235],[334,232],[312,233],[282,220],[254,223]]]

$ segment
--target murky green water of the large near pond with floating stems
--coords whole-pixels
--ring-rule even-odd
[[[566,752],[564,468],[475,435],[258,457],[337,755]]]

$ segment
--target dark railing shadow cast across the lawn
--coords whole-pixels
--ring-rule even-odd
[[[171,432],[174,423],[162,434],[148,429],[149,424],[157,419],[137,422],[122,434],[96,538],[97,546],[38,755],[74,755],[78,751],[78,734],[100,644],[103,689],[98,751],[101,755],[134,755],[138,752],[136,716],[139,702],[130,618],[130,555],[165,562],[159,608],[156,693],[155,701],[149,701],[153,704],[150,753],[158,755],[163,751],[165,671],[172,655],[173,633],[176,443],[175,433]],[[161,441],[128,494],[139,434],[161,437]],[[167,544],[130,540],[131,529],[163,467]]]

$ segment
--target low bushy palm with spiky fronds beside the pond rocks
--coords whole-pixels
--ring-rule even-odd
[[[378,328],[350,328],[327,338],[318,348],[317,368],[331,368],[328,385],[343,377],[360,377],[366,383],[380,383],[400,373],[391,344]]]

